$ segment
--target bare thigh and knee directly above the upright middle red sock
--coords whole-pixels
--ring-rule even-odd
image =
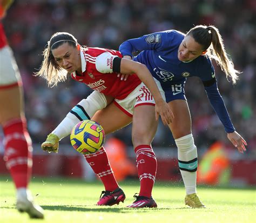
[[[151,144],[157,131],[154,106],[140,105],[134,108],[132,119],[133,146]]]

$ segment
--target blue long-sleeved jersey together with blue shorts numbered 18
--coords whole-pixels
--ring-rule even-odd
[[[159,80],[165,91],[166,102],[186,99],[184,91],[186,78],[199,77],[225,131],[233,132],[235,129],[220,96],[211,60],[206,55],[201,55],[191,62],[181,62],[178,59],[178,48],[184,37],[184,33],[177,30],[156,32],[126,40],[120,45],[119,51],[123,56],[131,57],[133,52],[140,51],[133,60],[145,64],[152,76]]]

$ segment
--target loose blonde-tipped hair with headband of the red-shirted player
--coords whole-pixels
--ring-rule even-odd
[[[41,76],[48,82],[48,86],[56,86],[58,82],[64,82],[67,77],[67,73],[62,67],[58,65],[55,58],[52,55],[51,50],[58,48],[63,43],[69,43],[76,47],[77,39],[68,32],[56,32],[51,36],[48,45],[43,51],[43,62],[41,68],[35,73],[35,76]]]

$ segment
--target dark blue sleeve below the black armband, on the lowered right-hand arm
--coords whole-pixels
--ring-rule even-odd
[[[207,97],[210,100],[210,103],[214,111],[217,113],[221,123],[224,125],[225,131],[227,133],[234,132],[235,128],[231,122],[230,116],[228,115],[223,98],[219,93],[217,82],[214,81],[213,83],[211,83],[211,80],[209,80],[207,84],[205,84],[204,82],[204,85]]]

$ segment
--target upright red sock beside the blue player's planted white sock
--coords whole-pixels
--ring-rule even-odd
[[[140,180],[140,196],[151,197],[157,173],[157,159],[150,145],[140,145],[134,149]]]

